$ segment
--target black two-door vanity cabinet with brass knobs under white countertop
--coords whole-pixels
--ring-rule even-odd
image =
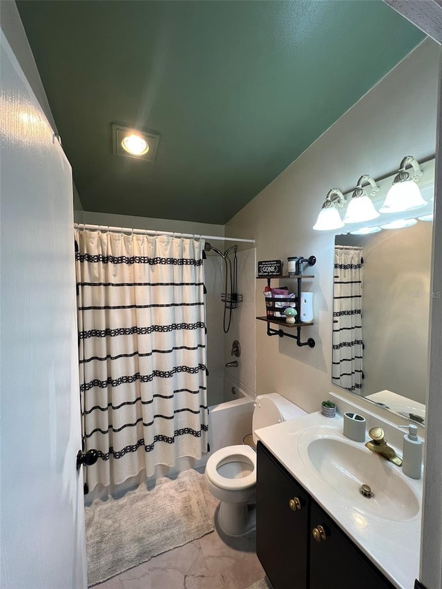
[[[260,442],[257,460],[256,553],[274,589],[394,588]]]

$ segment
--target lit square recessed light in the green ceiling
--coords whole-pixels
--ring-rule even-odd
[[[153,131],[141,131],[117,123],[112,124],[113,154],[153,162],[160,135]]]

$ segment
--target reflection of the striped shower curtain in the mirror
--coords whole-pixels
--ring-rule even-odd
[[[362,249],[334,249],[332,382],[362,394]]]

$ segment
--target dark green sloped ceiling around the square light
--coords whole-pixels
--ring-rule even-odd
[[[17,6],[84,209],[221,224],[423,39],[381,0]]]

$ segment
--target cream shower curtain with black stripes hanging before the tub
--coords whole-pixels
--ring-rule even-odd
[[[75,231],[89,490],[207,451],[204,241]]]

